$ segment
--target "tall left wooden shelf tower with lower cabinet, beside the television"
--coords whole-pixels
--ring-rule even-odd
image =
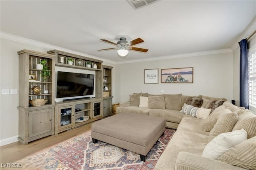
[[[54,134],[54,83],[55,56],[38,51],[21,50],[19,55],[19,136],[18,140],[27,144],[32,140]],[[41,60],[47,61],[50,76],[42,78],[42,70],[36,69]],[[32,80],[31,79],[32,76]],[[36,94],[32,89],[38,87]],[[44,94],[43,91],[48,93]],[[29,101],[47,100],[45,105],[32,106]]]

